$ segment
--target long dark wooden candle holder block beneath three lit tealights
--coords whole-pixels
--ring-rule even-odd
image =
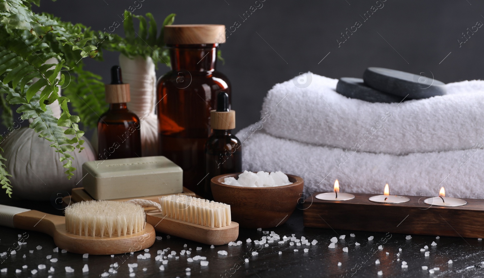
[[[406,196],[407,203],[380,204],[368,200],[378,194],[354,194],[347,201],[304,200],[305,227],[399,234],[484,237],[484,200],[463,199],[467,205],[427,205],[427,197]],[[445,197],[444,197],[445,198]],[[420,201],[419,201],[420,200]]]

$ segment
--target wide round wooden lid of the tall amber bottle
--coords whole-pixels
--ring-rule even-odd
[[[222,44],[225,25],[183,24],[165,26],[166,44]]]

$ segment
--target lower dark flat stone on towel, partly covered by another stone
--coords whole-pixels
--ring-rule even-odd
[[[363,83],[361,78],[341,77],[336,85],[336,92],[351,99],[359,99],[367,102],[401,102],[403,97],[394,96],[374,88],[370,88]],[[409,100],[409,98],[405,98]]]

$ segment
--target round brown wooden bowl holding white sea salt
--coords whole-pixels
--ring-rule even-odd
[[[232,220],[241,228],[272,228],[284,224],[302,197],[302,177],[287,175],[289,185],[276,187],[241,187],[223,184],[226,177],[215,176],[210,184],[213,200],[230,205]]]

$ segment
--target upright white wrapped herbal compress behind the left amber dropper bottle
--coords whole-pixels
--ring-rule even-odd
[[[139,117],[141,123],[141,151],[143,156],[158,155],[158,118],[156,104],[156,73],[151,57],[137,56],[129,59],[120,54],[123,83],[129,83],[131,101],[128,109]]]

